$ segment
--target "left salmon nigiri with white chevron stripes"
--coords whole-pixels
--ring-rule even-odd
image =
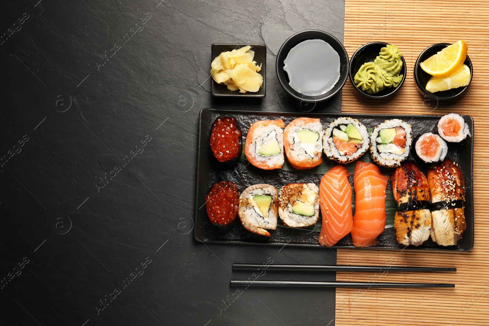
[[[350,173],[344,166],[331,168],[321,178],[319,198],[323,224],[319,244],[331,247],[353,229],[352,187],[348,182]]]

